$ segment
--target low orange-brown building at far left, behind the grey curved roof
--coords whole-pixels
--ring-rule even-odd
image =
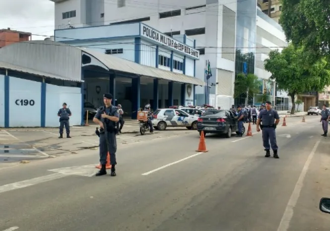
[[[10,28],[0,29],[0,48],[17,42],[30,41],[31,37],[31,33],[10,30]]]

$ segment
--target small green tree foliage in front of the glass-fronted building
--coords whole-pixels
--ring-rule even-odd
[[[235,78],[235,91],[234,97],[240,97],[249,91],[249,96],[253,97],[254,94],[260,92],[260,80],[254,74],[238,74]]]

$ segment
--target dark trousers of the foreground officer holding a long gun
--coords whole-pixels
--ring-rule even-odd
[[[111,165],[116,165],[116,152],[117,152],[117,141],[116,133],[108,132],[108,142],[106,139],[106,134],[100,134],[100,163],[101,165],[107,164],[108,152],[110,153]]]

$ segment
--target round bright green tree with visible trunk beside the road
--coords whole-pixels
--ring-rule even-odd
[[[283,49],[271,51],[269,58],[264,60],[265,70],[271,73],[270,78],[275,80],[278,89],[287,91],[291,97],[292,109],[295,110],[295,96],[306,91],[321,91],[330,85],[330,64],[326,59],[318,59],[311,66],[305,65],[303,49],[296,49],[289,45]]]

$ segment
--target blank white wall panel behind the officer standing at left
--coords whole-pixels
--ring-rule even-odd
[[[62,87],[46,84],[46,127],[57,127],[60,125],[58,111],[66,103],[72,116],[70,126],[81,123],[81,93],[77,87]],[[39,122],[40,123],[40,122]],[[40,125],[39,125],[40,126]]]

